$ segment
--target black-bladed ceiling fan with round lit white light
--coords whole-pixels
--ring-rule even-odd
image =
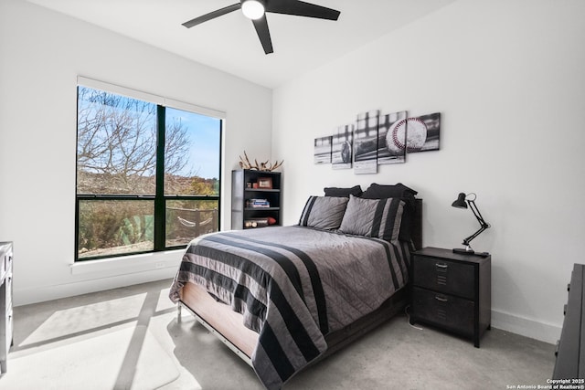
[[[254,24],[262,47],[264,48],[264,53],[266,54],[273,52],[271,33],[268,29],[268,22],[266,20],[267,12],[328,20],[337,20],[340,14],[340,12],[335,11],[335,9],[298,0],[240,0],[239,3],[234,5],[228,5],[204,16],[198,16],[195,19],[191,19],[188,22],[183,23],[183,26],[191,28],[192,26],[200,25],[203,22],[207,22],[207,20],[229,14],[240,8],[244,16],[250,18]]]

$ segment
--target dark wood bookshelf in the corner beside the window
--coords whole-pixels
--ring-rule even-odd
[[[272,188],[249,188],[261,178],[270,178]],[[250,199],[266,199],[270,207],[246,206]],[[282,226],[282,174],[250,169],[231,172],[231,228],[244,229],[246,221],[274,218],[271,226]],[[258,228],[258,227],[256,227]]]

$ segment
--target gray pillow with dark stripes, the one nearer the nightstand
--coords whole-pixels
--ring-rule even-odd
[[[399,198],[363,199],[349,196],[339,230],[357,236],[397,241],[404,202]]]

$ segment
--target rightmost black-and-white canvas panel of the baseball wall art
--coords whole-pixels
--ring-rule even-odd
[[[441,112],[407,120],[407,153],[438,151],[441,135]]]

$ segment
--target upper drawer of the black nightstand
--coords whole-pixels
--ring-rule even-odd
[[[429,290],[473,300],[475,269],[471,264],[415,255],[414,284]]]

